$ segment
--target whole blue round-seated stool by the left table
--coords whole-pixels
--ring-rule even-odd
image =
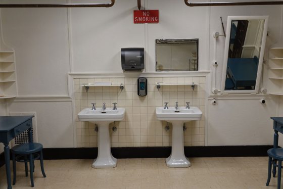
[[[16,183],[16,161],[25,163],[26,176],[28,175],[27,162],[29,162],[31,187],[34,186],[33,183],[34,160],[40,159],[41,172],[43,177],[46,177],[43,168],[42,148],[43,148],[42,145],[39,143],[24,143],[17,145],[11,149],[12,160],[13,160],[13,173],[14,173],[13,185]]]

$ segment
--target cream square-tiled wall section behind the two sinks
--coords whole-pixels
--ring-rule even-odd
[[[82,86],[84,83],[95,81],[111,81],[112,84],[123,83],[124,89],[118,86],[96,86],[89,87],[88,92]],[[165,85],[158,90],[156,82],[164,83],[200,83],[195,90],[191,85]],[[117,130],[111,133],[112,147],[157,147],[171,146],[172,125],[169,123],[170,131],[165,131],[167,125],[165,121],[158,121],[155,118],[155,107],[164,106],[164,102],[169,102],[169,106],[175,106],[177,101],[179,106],[185,106],[185,102],[190,101],[191,106],[198,106],[203,112],[202,120],[185,123],[184,146],[204,146],[205,138],[205,82],[206,77],[149,77],[148,95],[139,97],[137,95],[137,78],[75,78],[75,106],[76,114],[87,107],[90,103],[97,103],[97,107],[105,102],[107,107],[112,107],[112,103],[117,102],[117,107],[125,107],[126,114],[124,120],[111,123],[109,129],[114,124]],[[95,124],[80,122],[76,118],[76,140],[77,147],[97,147],[97,132]]]

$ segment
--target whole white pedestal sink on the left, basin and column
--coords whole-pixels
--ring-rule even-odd
[[[117,166],[117,159],[112,156],[110,145],[109,124],[124,119],[125,108],[112,110],[85,108],[78,113],[79,121],[89,121],[98,125],[98,157],[92,163],[93,168],[113,168]]]

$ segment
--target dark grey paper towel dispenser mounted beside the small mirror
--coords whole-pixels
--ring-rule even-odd
[[[122,69],[125,71],[141,71],[145,69],[145,49],[122,48],[121,63]]]

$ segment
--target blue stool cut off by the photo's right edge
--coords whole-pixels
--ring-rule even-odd
[[[266,185],[269,185],[269,181],[271,178],[271,167],[273,165],[273,177],[276,175],[276,167],[278,167],[278,175],[277,175],[277,188],[280,189],[281,185],[281,168],[282,168],[282,160],[283,160],[283,149],[282,148],[272,148],[267,151],[268,154],[268,177]],[[277,164],[278,161],[278,164]]]

